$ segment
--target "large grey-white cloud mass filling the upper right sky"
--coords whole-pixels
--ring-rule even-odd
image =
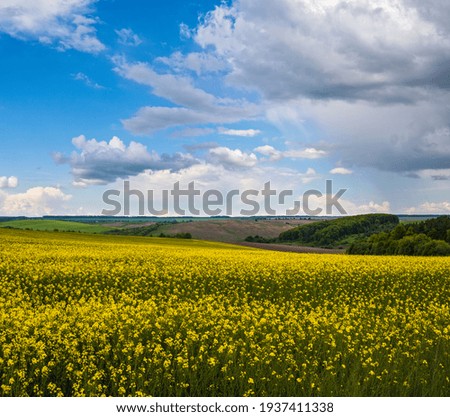
[[[306,120],[345,165],[414,175],[450,168],[449,17],[441,0],[240,0],[193,38],[275,125]]]

